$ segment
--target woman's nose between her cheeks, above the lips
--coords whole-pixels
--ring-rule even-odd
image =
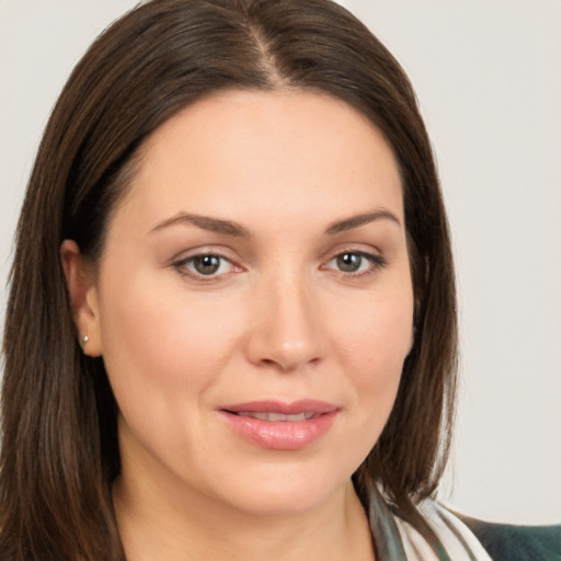
[[[294,274],[263,279],[253,295],[250,362],[288,373],[325,356],[328,340],[313,287]]]

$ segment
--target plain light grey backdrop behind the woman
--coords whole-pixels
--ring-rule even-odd
[[[0,0],[2,285],[50,107],[95,35],[135,3]],[[463,382],[443,494],[474,516],[560,520],[561,2],[341,3],[409,72],[448,205]]]

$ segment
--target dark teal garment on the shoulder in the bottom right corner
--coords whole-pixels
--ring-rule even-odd
[[[517,526],[455,514],[474,534],[494,561],[561,560],[561,524]]]

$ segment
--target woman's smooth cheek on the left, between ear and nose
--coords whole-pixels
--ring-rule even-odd
[[[170,401],[195,402],[218,381],[236,324],[231,314],[217,318],[219,306],[205,307],[149,275],[126,280],[126,288],[102,293],[105,368],[123,412],[141,407],[169,415]]]

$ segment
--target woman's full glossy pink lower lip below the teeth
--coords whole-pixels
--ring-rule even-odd
[[[300,450],[328,433],[337,412],[331,411],[296,422],[261,421],[228,411],[220,413],[237,434],[252,444],[273,450]]]

